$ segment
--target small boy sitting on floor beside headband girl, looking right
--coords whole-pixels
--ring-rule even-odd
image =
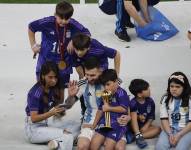
[[[149,83],[142,79],[131,81],[129,91],[135,96],[130,101],[131,125],[139,148],[147,146],[145,138],[153,138],[160,133],[160,127],[152,125],[155,120],[155,103],[150,97]]]

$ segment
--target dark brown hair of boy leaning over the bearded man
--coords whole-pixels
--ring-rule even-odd
[[[72,38],[72,44],[77,50],[83,51],[85,48],[89,48],[91,39],[84,33],[77,33]]]

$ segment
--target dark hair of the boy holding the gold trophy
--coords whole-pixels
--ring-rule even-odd
[[[100,76],[100,81],[105,85],[108,81],[116,81],[118,79],[117,72],[114,69],[106,69]]]

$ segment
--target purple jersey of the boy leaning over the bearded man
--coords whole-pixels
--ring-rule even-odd
[[[73,54],[74,67],[82,65],[82,63],[89,57],[97,57],[100,60],[101,68],[103,70],[108,69],[108,58],[114,58],[116,56],[117,51],[102,45],[96,39],[92,39],[90,43],[90,49],[83,57],[78,57],[76,54]]]

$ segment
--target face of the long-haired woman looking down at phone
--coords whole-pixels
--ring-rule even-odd
[[[53,87],[57,83],[57,77],[56,74],[53,71],[50,71],[48,74],[43,76],[45,79],[46,87]]]

